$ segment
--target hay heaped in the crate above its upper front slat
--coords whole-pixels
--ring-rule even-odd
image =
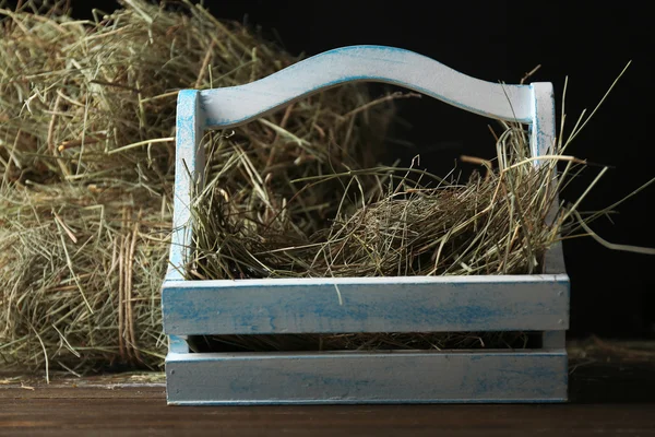
[[[266,160],[252,156],[259,149],[245,151],[221,139],[219,157],[210,155],[218,176],[209,172],[211,181],[194,200],[196,237],[188,277],[537,273],[571,212],[556,211],[547,222],[559,206],[552,184],[559,160],[535,167],[527,132],[522,126],[505,128],[496,168],[467,157],[487,168],[465,184],[416,165],[330,163],[332,173],[271,175],[261,168]],[[324,185],[330,201],[317,199]],[[305,224],[308,210],[321,216]]]

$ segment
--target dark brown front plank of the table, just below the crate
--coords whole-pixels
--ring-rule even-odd
[[[655,436],[653,404],[167,406],[159,399],[2,402],[1,436]]]

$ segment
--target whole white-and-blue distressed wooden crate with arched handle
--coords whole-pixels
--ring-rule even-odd
[[[563,402],[569,277],[561,247],[534,275],[188,281],[191,187],[206,129],[249,122],[354,81],[401,85],[529,125],[534,156],[555,140],[550,83],[480,81],[412,51],[344,47],[242,86],[179,93],[174,235],[163,284],[170,404]],[[535,162],[538,165],[538,162]],[[531,350],[191,353],[189,335],[536,331]]]

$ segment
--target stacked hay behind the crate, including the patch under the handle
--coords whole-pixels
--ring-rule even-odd
[[[159,368],[177,92],[248,83],[298,58],[191,2],[124,0],[93,21],[36,4],[0,10],[0,359]],[[373,144],[393,97],[342,86],[234,139],[311,163],[308,144]]]

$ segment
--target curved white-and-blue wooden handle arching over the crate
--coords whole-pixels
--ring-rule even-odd
[[[359,81],[403,86],[485,117],[533,120],[531,85],[483,81],[401,48],[349,46],[246,85],[201,91],[205,127],[242,125],[322,90]]]

